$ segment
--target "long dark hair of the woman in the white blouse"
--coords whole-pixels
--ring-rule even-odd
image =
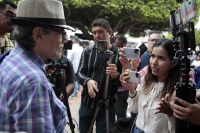
[[[173,61],[173,58],[176,53],[176,50],[174,50],[174,42],[170,39],[160,39],[154,44],[153,48],[159,47],[159,46],[163,47],[167,51],[168,57],[170,58],[171,61]],[[169,94],[170,97],[172,96],[174,92],[174,86],[176,85],[176,82],[180,80],[180,77],[181,77],[180,67],[181,65],[178,62],[176,66],[171,68],[165,80],[161,98],[164,97],[166,94]],[[144,77],[144,80],[145,80],[145,84],[143,86],[144,87],[143,92],[149,93],[152,90],[151,85],[158,81],[158,77],[152,74],[150,63],[149,63],[147,74]]]

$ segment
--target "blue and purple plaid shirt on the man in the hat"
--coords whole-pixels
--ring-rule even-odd
[[[0,65],[0,131],[63,133],[66,114],[43,60],[17,45]]]

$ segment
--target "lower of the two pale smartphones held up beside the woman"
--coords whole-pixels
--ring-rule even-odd
[[[140,83],[140,73],[137,71],[128,71],[129,79],[127,80],[128,82],[131,83]]]

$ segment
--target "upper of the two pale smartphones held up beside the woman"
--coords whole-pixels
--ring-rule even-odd
[[[124,55],[126,59],[138,59],[140,58],[140,49],[139,48],[123,48]]]

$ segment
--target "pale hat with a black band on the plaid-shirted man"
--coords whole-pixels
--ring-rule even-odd
[[[11,21],[22,26],[53,26],[75,30],[66,25],[63,5],[58,0],[21,0],[17,6],[17,16]]]

